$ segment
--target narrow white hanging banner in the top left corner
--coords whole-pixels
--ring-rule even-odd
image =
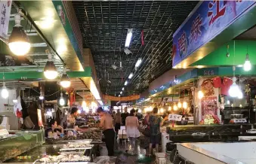
[[[8,39],[8,26],[11,14],[11,1],[0,0],[0,38]]]

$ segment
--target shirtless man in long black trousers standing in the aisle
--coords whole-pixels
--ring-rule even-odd
[[[100,115],[100,128],[103,129],[105,137],[106,149],[109,156],[114,155],[115,131],[113,129],[113,118],[110,114],[103,111],[103,108],[97,108],[97,113]]]

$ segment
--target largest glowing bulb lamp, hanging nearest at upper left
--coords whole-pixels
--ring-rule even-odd
[[[9,37],[8,46],[12,53],[17,56],[23,56],[29,52],[31,44],[23,26],[20,25],[20,14],[15,14],[14,20],[15,26],[13,27]]]

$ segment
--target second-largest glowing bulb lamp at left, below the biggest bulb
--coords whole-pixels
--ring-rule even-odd
[[[48,61],[46,62],[45,68],[44,68],[44,74],[45,77],[49,80],[54,80],[54,78],[57,77],[57,68],[54,65],[54,62],[52,61],[51,54],[48,54]]]

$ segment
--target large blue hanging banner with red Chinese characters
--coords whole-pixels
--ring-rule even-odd
[[[255,3],[244,0],[201,2],[174,33],[173,67],[224,31]]]

